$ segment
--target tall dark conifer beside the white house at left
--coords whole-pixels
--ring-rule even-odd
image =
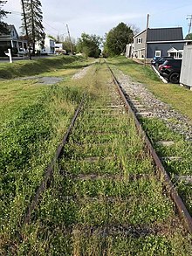
[[[29,44],[32,45],[33,54],[35,54],[36,42],[42,48],[45,45],[42,5],[39,0],[21,0],[21,3],[23,8],[23,31],[28,38]]]

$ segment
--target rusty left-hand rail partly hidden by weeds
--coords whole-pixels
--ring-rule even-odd
[[[77,110],[75,111],[75,114],[72,117],[71,124],[70,124],[69,128],[67,129],[67,131],[66,131],[66,133],[63,137],[62,142],[58,145],[58,149],[55,152],[55,156],[53,156],[53,158],[51,160],[51,163],[48,165],[47,169],[45,170],[44,179],[41,182],[41,184],[39,185],[38,190],[36,191],[34,197],[32,197],[31,204],[29,205],[29,207],[28,207],[28,209],[27,209],[27,211],[24,215],[24,218],[23,218],[23,221],[21,222],[21,225],[28,224],[30,222],[31,212],[33,210],[35,210],[36,205],[38,204],[38,200],[39,200],[41,194],[49,186],[48,183],[51,179],[51,176],[53,175],[53,170],[54,170],[55,164],[57,163],[58,158],[61,156],[66,142],[68,142],[68,140],[69,140],[69,136],[72,133],[72,128],[74,127],[75,121],[77,120],[77,118],[79,116],[79,112],[80,112],[81,108],[83,107],[83,105],[85,103],[85,99],[86,99],[86,93],[84,94],[84,96],[83,96],[83,98],[82,98],[82,100],[79,104],[79,107],[77,108]]]

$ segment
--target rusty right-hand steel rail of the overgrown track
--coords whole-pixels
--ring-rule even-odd
[[[149,141],[145,131],[141,127],[140,121],[137,119],[136,115],[134,114],[134,110],[132,109],[132,107],[130,106],[130,104],[129,104],[127,98],[126,98],[126,95],[125,95],[126,93],[124,93],[122,87],[120,86],[119,81],[114,76],[113,71],[110,68],[110,66],[108,66],[107,63],[106,63],[106,66],[108,67],[109,71],[111,72],[111,74],[113,76],[113,81],[114,81],[115,85],[117,86],[118,92],[120,93],[120,96],[121,96],[122,100],[124,101],[128,112],[131,113],[132,116],[134,117],[135,125],[136,125],[138,131],[143,136],[145,142],[146,142],[147,149],[149,150],[149,153],[150,153],[150,155],[152,156],[152,158],[154,160],[154,164],[157,167],[157,170],[159,170],[160,176],[162,175],[163,178],[164,178],[164,182],[166,184],[166,188],[168,190],[168,193],[170,193],[170,197],[175,202],[177,211],[179,212],[179,215],[182,218],[186,229],[189,232],[192,232],[192,218],[189,214],[189,211],[187,210],[185,204],[183,204],[182,198],[178,195],[177,191],[175,190],[174,183],[172,183],[170,177],[168,176],[167,171],[164,169],[164,167],[161,163],[161,160],[160,160],[159,156],[157,156],[157,154],[156,154],[156,152],[155,152],[155,150],[152,146],[152,143]]]

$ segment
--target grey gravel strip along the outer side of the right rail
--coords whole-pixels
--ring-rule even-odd
[[[139,112],[141,114],[145,112],[149,118],[157,117],[164,121],[168,125],[168,128],[183,135],[186,140],[192,141],[192,126],[188,117],[179,113],[167,103],[157,99],[153,93],[147,90],[145,85],[134,82],[128,75],[120,71],[116,71],[115,73],[120,86],[122,86],[129,96],[136,113]]]

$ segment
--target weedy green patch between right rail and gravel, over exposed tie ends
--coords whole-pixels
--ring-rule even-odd
[[[179,191],[182,200],[185,202],[192,215],[192,186],[185,181],[178,181],[175,176],[192,176],[192,142],[186,142],[182,135],[171,131],[163,121],[157,119],[141,119],[142,126],[153,143],[158,156],[163,159],[163,165],[171,176],[176,189]],[[171,145],[162,145],[159,142],[171,141]],[[179,157],[178,160],[171,160],[168,157]]]

